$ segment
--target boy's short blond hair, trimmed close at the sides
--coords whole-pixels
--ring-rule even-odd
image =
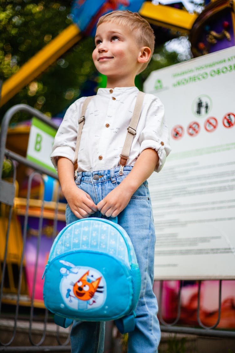
[[[151,50],[151,56],[145,64],[141,66],[142,72],[147,66],[154,52],[154,31],[146,19],[141,17],[138,12],[131,12],[129,10],[124,11],[112,11],[103,16],[98,20],[97,26],[104,22],[115,22],[118,25],[122,25],[128,28],[130,32],[134,32],[137,44],[143,47],[149,47]]]

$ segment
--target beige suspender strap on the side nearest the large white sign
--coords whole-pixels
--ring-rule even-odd
[[[122,149],[122,154],[120,154],[120,171],[119,171],[119,175],[123,174],[123,168],[126,165],[126,162],[129,158],[129,153],[130,153],[130,149],[131,149],[131,144],[132,144],[132,140],[134,138],[134,136],[136,135],[136,127],[138,124],[138,121],[140,119],[140,113],[141,113],[141,109],[142,109],[142,105],[143,105],[143,100],[144,100],[144,93],[143,92],[139,92],[136,98],[136,103],[135,103],[135,109],[134,109],[134,113],[132,115],[131,118],[131,122],[130,122],[130,126],[127,128],[127,134],[126,134],[126,139],[125,139],[125,143]]]

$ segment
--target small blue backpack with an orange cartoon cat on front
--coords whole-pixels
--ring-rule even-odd
[[[95,217],[70,223],[51,247],[44,276],[44,303],[56,324],[115,320],[121,333],[134,330],[140,270],[118,224]]]

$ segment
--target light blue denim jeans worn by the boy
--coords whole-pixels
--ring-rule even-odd
[[[122,176],[118,174],[120,167],[80,172],[75,182],[97,204],[121,183],[131,168],[124,167]],[[92,215],[101,216],[100,212]],[[67,224],[76,220],[67,205]],[[128,353],[156,353],[161,334],[157,319],[157,300],[153,293],[155,231],[147,181],[137,189],[129,204],[118,215],[118,224],[125,229],[132,241],[141,272],[141,292],[135,309],[135,330],[128,335]],[[71,352],[102,353],[104,327],[104,322],[74,321],[70,334]]]

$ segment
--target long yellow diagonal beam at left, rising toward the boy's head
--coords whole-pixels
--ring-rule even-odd
[[[71,24],[56,38],[28,60],[17,73],[2,84],[0,106],[11,99],[21,88],[30,83],[49,65],[81,39],[80,29]]]

